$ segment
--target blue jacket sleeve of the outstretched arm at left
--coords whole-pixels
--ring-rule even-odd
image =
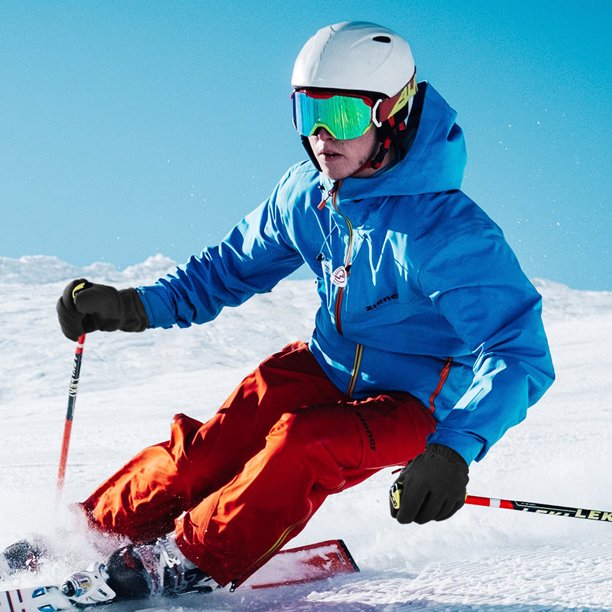
[[[204,249],[154,285],[137,288],[149,327],[211,321],[224,306],[270,291],[303,263],[277,205],[281,183],[220,245]]]

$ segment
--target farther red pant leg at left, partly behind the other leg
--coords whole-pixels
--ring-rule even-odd
[[[303,342],[285,347],[247,376],[208,422],[176,415],[170,439],[136,455],[83,502],[103,532],[151,540],[227,484],[265,445],[283,412],[343,395]]]

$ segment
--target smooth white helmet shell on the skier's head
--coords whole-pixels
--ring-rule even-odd
[[[391,98],[414,75],[412,51],[401,36],[374,23],[344,21],[320,29],[302,47],[291,85],[377,92]]]

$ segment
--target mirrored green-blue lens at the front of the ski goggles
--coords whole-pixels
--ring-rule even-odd
[[[302,136],[325,128],[336,140],[351,140],[372,125],[372,103],[364,98],[305,91],[294,91],[291,97],[293,124]]]

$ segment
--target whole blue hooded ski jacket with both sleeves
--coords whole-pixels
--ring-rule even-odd
[[[428,442],[470,463],[525,417],[554,372],[540,295],[460,191],[456,113],[420,88],[420,122],[399,162],[339,186],[297,164],[221,244],[138,291],[150,327],[186,327],[305,262],[321,300],[310,349],[329,378],[356,399],[416,396],[438,423]]]

